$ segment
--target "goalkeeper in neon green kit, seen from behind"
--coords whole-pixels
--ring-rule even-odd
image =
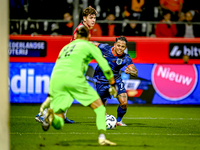
[[[96,113],[99,144],[116,145],[105,137],[105,107],[97,92],[86,81],[84,73],[87,70],[88,63],[95,59],[111,85],[111,94],[116,95],[114,75],[101,51],[88,40],[89,31],[87,27],[79,26],[77,39],[64,46],[60,51],[50,79],[50,103],[49,100],[45,101],[41,110],[48,108],[50,104],[42,128],[47,131],[52,125],[55,129],[61,129],[64,126],[64,112],[76,99],[83,106],[90,106]]]

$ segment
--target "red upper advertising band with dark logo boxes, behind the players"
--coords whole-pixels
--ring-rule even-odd
[[[10,36],[10,62],[55,62],[61,48],[70,42],[71,36]],[[92,37],[92,41],[114,42],[116,37]],[[46,53],[43,57],[13,57],[19,51],[19,45],[12,43],[23,40],[26,42],[46,42]],[[134,63],[183,64],[182,56],[189,55],[189,64],[200,64],[200,38],[139,38],[127,37],[134,43],[128,51],[135,52]],[[32,43],[34,44],[34,43]],[[44,45],[44,44],[43,44]],[[23,47],[26,49],[26,47]],[[38,49],[37,49],[38,50]],[[39,55],[39,54],[38,54]]]

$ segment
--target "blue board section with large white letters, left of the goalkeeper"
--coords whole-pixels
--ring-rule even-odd
[[[54,63],[10,63],[10,102],[43,102],[53,66]]]

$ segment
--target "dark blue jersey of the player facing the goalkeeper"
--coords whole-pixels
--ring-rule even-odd
[[[99,44],[98,47],[101,50],[104,58],[108,61],[108,64],[114,73],[115,82],[122,82],[120,74],[121,68],[123,68],[124,66],[128,67],[130,65],[133,65],[132,59],[130,58],[129,54],[123,53],[121,56],[116,56],[113,53],[114,47],[107,44]],[[98,82],[108,83],[108,80],[105,78],[99,66],[97,66],[95,69],[94,78]]]

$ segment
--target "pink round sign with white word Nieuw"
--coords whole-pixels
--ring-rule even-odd
[[[189,96],[197,84],[195,65],[158,65],[152,70],[152,83],[156,92],[170,101]]]

